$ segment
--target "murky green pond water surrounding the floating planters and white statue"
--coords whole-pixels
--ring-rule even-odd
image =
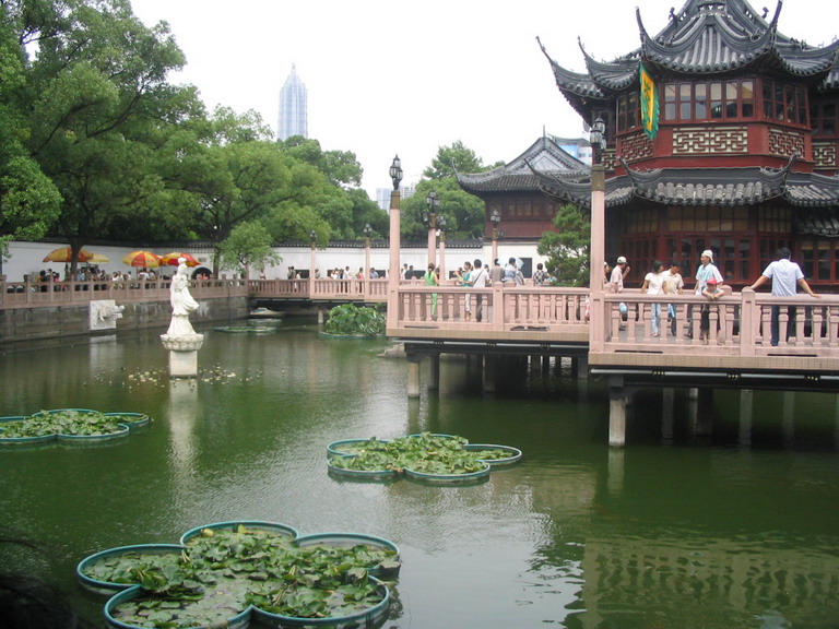
[[[87,555],[268,520],[395,542],[393,629],[839,627],[836,396],[642,391],[615,450],[602,382],[522,365],[485,395],[474,364],[444,359],[440,390],[409,400],[388,342],[304,323],[203,330],[194,383],[169,382],[162,331],[0,356],[0,415],[154,419],[107,444],[0,448],[4,532],[49,555],[16,565],[104,624],[104,600],[75,582]],[[327,473],[331,441],[420,431],[523,458],[473,486]]]

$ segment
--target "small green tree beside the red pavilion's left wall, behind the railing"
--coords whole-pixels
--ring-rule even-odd
[[[546,232],[536,250],[547,257],[547,270],[560,286],[588,286],[591,217],[579,206],[566,204],[554,216],[555,232]]]

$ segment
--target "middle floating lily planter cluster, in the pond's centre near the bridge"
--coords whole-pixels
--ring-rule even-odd
[[[485,480],[493,462],[513,463],[521,451],[508,446],[478,446],[458,435],[421,432],[392,441],[345,439],[327,447],[330,474],[359,480],[404,475],[434,484]]]

